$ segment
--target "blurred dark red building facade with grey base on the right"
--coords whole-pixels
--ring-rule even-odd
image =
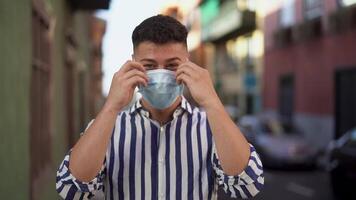
[[[280,1],[264,21],[264,109],[320,148],[356,126],[355,3]]]

